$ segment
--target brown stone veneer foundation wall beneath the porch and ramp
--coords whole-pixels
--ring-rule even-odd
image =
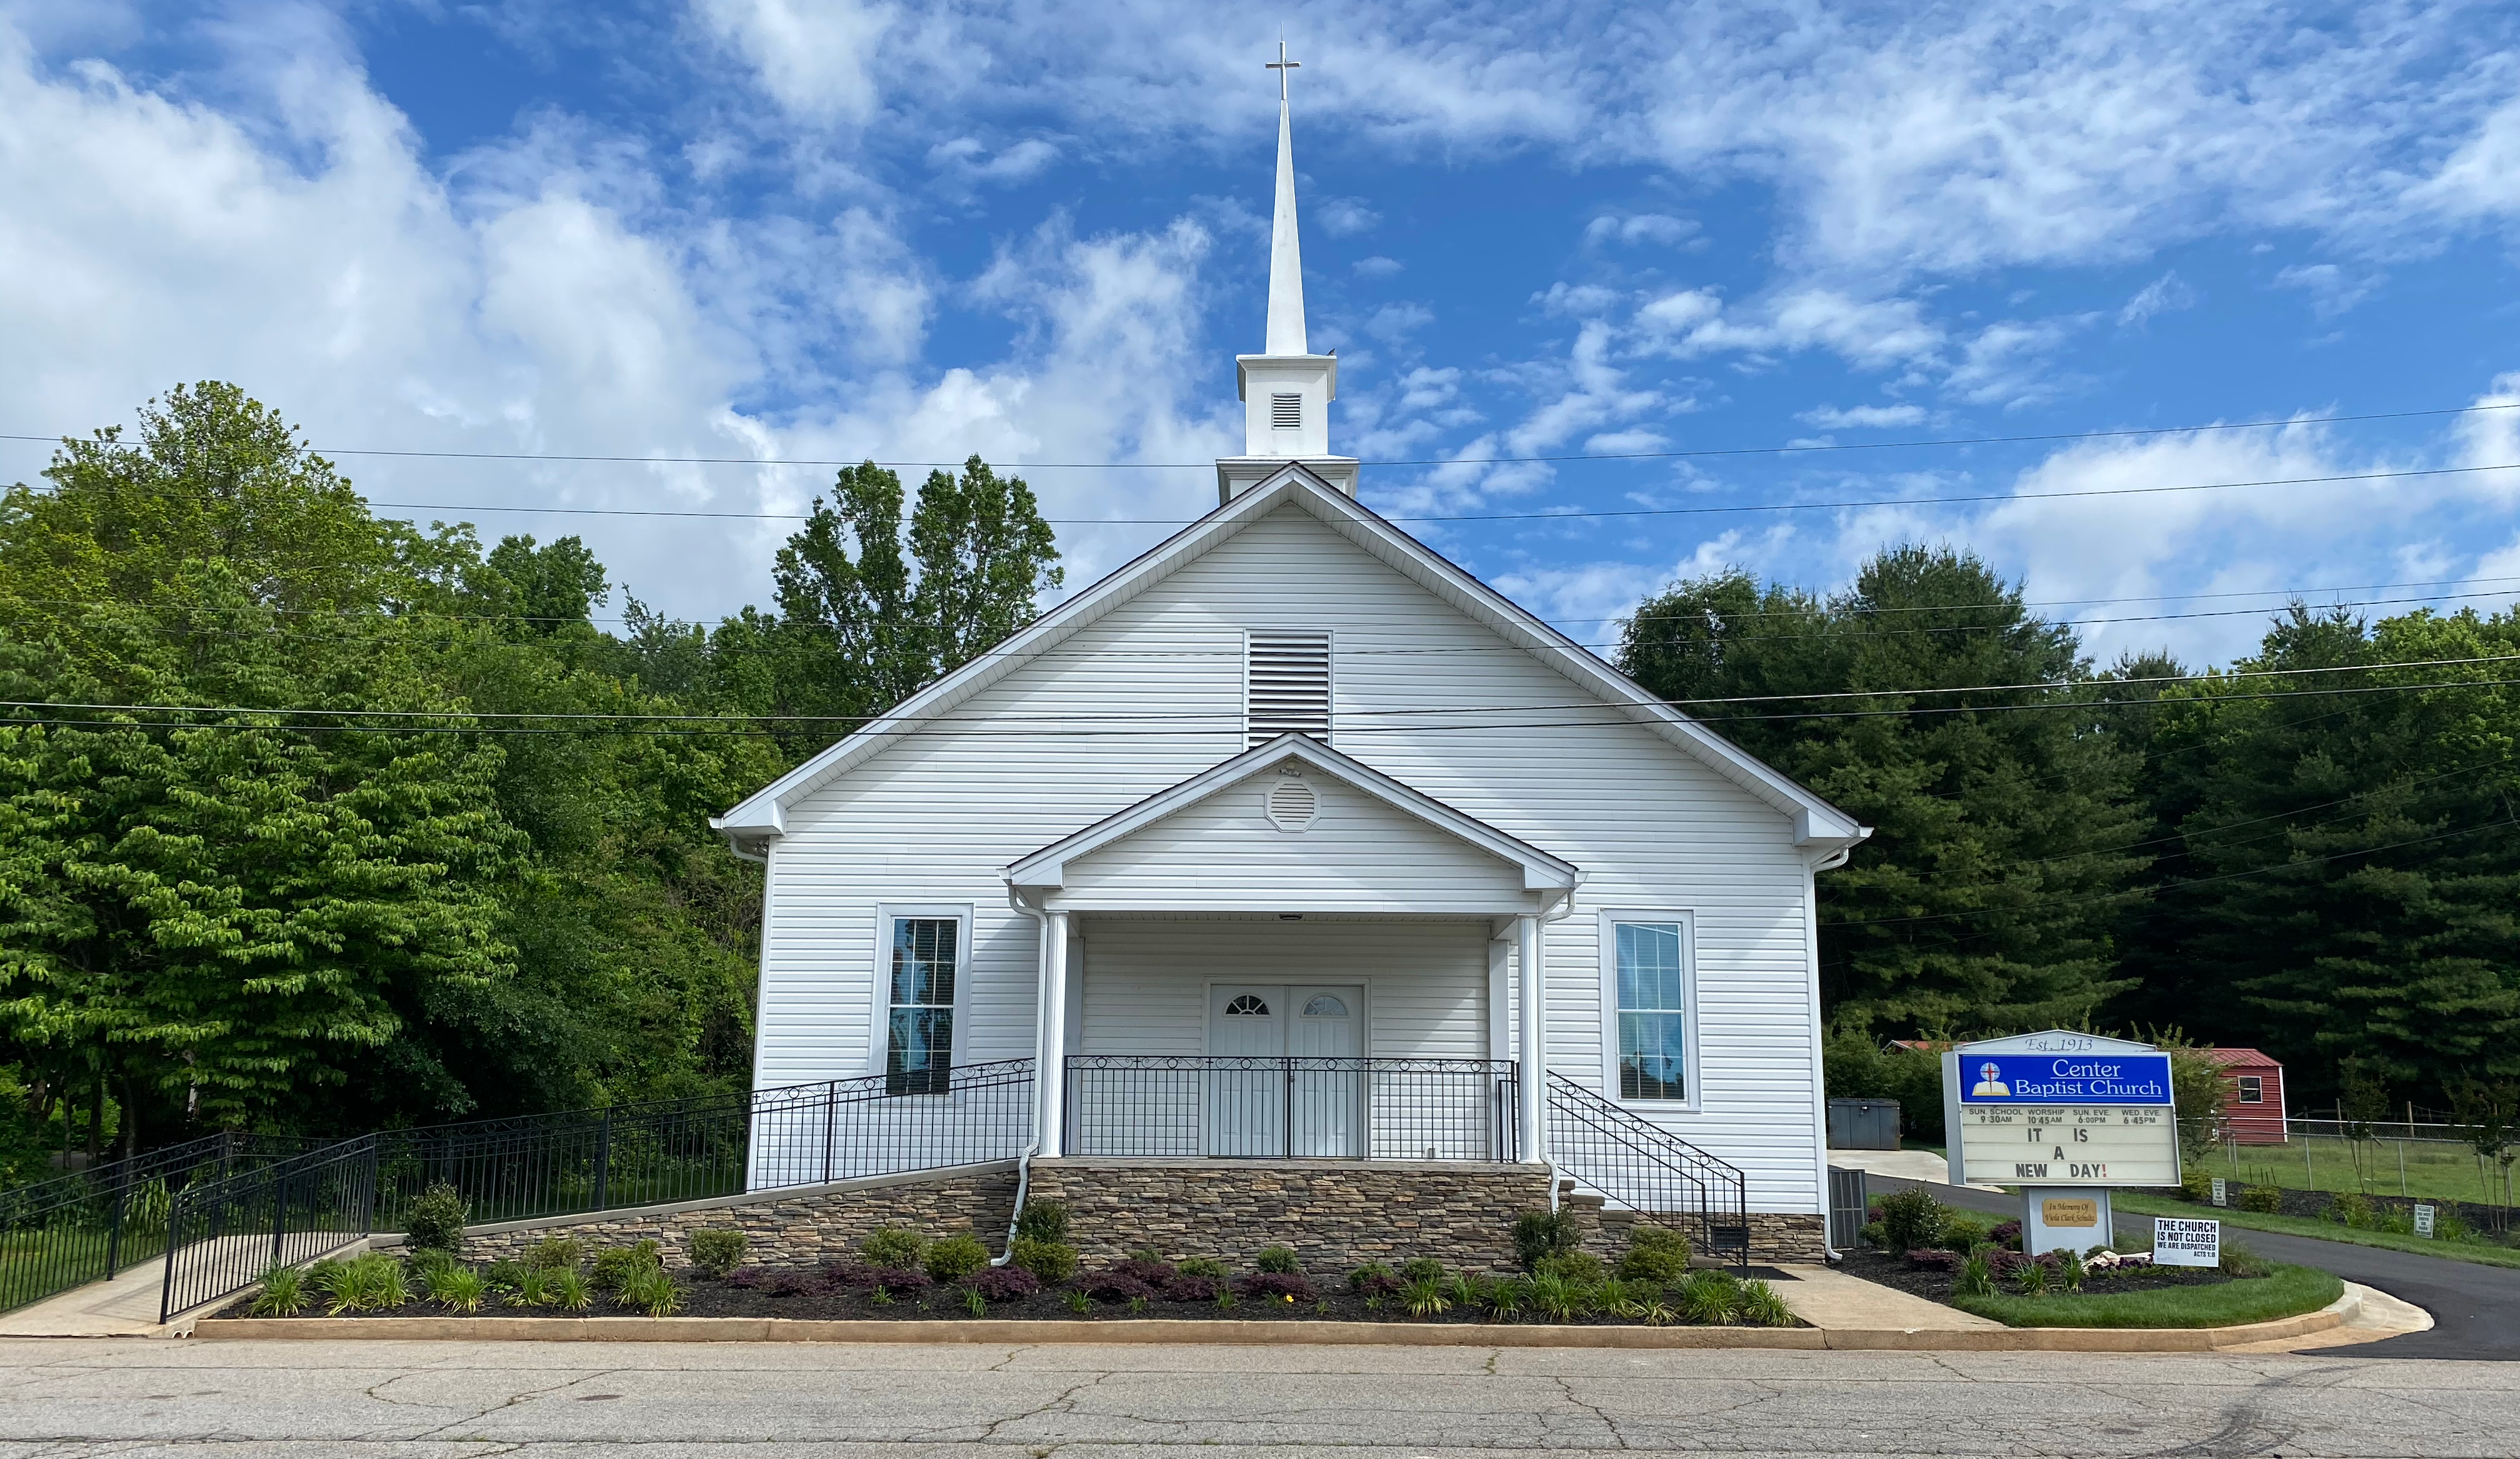
[[[1560,1182],[1585,1250],[1625,1250],[1633,1212]],[[1515,1217],[1547,1207],[1547,1167],[1353,1159],[1036,1159],[1028,1197],[1068,1207],[1068,1240],[1086,1265],[1142,1247],[1167,1257],[1250,1265],[1265,1247],[1295,1247],[1305,1267],[1341,1273],[1358,1262],[1429,1255],[1449,1267],[1512,1270]],[[464,1255],[524,1255],[552,1235],[592,1247],[655,1240],[668,1265],[690,1260],[690,1232],[736,1227],[751,1237],[748,1265],[814,1265],[844,1257],[892,1225],[930,1237],[975,1232],[990,1252],[1016,1210],[1016,1164],[968,1164],[781,1192],[718,1197],[469,1227]],[[1751,1212],[1751,1260],[1824,1260],[1819,1215]],[[383,1237],[378,1245],[393,1245]]]

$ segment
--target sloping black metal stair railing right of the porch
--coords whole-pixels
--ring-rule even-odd
[[[1749,1262],[1749,1182],[1668,1129],[1550,1071],[1550,1159],[1557,1174],[1625,1210],[1686,1230],[1709,1255]]]

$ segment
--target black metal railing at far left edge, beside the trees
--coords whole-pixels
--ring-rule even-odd
[[[287,1134],[212,1134],[0,1189],[0,1313],[161,1257],[176,1192],[315,1144]]]

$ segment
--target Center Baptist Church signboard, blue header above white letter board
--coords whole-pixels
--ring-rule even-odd
[[[1966,1053],[1961,1162],[1976,1184],[2180,1184],[2165,1053]]]

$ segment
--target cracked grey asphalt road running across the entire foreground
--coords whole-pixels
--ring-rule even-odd
[[[842,1343],[0,1343],[0,1459],[2520,1454],[2492,1363]]]

